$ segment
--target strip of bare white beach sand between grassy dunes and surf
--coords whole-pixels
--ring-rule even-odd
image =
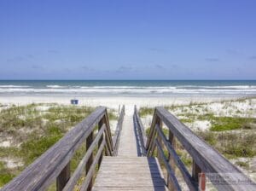
[[[105,106],[118,109],[119,105],[125,104],[125,112],[133,113],[134,105],[137,107],[170,106],[177,104],[188,104],[189,102],[222,101],[231,97],[135,97],[135,96],[96,96],[76,97],[79,105],[91,107]],[[234,98],[234,97],[232,97]],[[0,103],[26,105],[30,103],[59,103],[70,104],[72,96],[0,96]],[[44,109],[42,107],[42,109]]]

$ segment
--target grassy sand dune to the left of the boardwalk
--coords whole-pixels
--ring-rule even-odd
[[[10,106],[0,110],[0,187],[23,171],[64,134],[96,108],[58,104]],[[117,119],[113,110],[109,120]],[[72,169],[79,163],[84,148],[75,153]],[[13,166],[6,162],[9,160]]]

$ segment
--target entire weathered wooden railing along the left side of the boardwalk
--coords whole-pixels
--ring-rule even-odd
[[[45,190],[55,181],[58,191],[73,190],[79,178],[84,176],[84,169],[85,179],[80,188],[81,190],[90,190],[96,166],[101,165],[103,153],[109,156],[117,153],[119,131],[122,128],[124,115],[125,107],[122,108],[119,115],[117,130],[112,139],[107,109],[98,107],[95,112],[77,124],[73,130],[68,131],[59,142],[56,142],[2,190]],[[98,129],[96,130],[96,128]],[[74,153],[85,142],[86,153],[71,175],[70,161]],[[94,154],[95,151],[96,154]]]

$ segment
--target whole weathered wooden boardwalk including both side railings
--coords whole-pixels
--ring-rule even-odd
[[[107,108],[98,107],[1,191],[47,190],[54,182],[57,191],[161,191],[167,190],[166,185],[170,190],[180,191],[183,182],[191,191],[205,191],[206,177],[217,190],[256,190],[255,182],[164,107],[154,109],[148,136],[137,107],[134,107],[134,113],[132,110],[130,107],[126,113],[125,106],[122,107],[112,134]],[[163,124],[167,127],[167,136]],[[180,159],[176,140],[193,159],[192,171]],[[86,153],[71,173],[71,159],[84,143]],[[154,158],[155,152],[157,158]],[[166,171],[166,180],[158,159]],[[183,182],[177,179],[175,169],[181,173]],[[83,182],[80,181],[82,177]]]

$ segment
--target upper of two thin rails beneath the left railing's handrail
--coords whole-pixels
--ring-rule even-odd
[[[94,149],[96,148],[97,143],[102,138],[102,135],[103,135],[103,132],[104,132],[105,129],[106,129],[106,125],[103,124],[101,130],[98,131],[98,133],[96,135],[96,138],[91,143],[90,148],[86,151],[83,159],[81,159],[78,167],[73,172],[72,177],[67,182],[67,184],[66,184],[65,188],[63,189],[63,191],[71,191],[71,190],[73,190],[74,186],[76,185],[77,181],[79,180],[79,177],[81,177],[81,175],[83,173],[84,167],[87,164],[88,159],[90,158],[90,155],[93,153]],[[103,140],[103,138],[102,138],[102,140]]]

